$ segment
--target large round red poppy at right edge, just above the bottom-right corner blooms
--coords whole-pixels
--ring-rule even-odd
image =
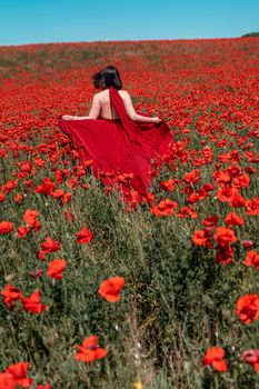
[[[259,295],[249,293],[237,300],[236,313],[245,325],[259,319]]]

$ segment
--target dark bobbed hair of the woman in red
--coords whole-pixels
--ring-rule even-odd
[[[116,67],[108,66],[98,73],[92,76],[93,86],[97,89],[106,89],[108,87],[114,87],[116,89],[122,89],[122,82],[120,79],[119,70]]]

